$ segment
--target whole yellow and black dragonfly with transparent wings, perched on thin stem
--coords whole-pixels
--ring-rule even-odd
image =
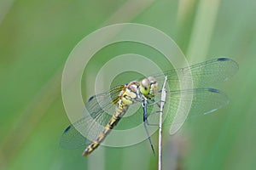
[[[61,147],[76,149],[86,145],[83,156],[89,156],[102,144],[113,127],[116,127],[123,119],[130,106],[140,104],[141,107],[134,116],[129,116],[128,119],[137,123],[143,122],[154,152],[147,127],[154,124],[151,121],[156,122],[154,117],[158,116],[153,116],[157,114],[151,116],[148,111],[152,105],[160,106],[161,101],[158,100],[161,94],[160,85],[165,77],[169,84],[166,96],[170,99],[166,100],[166,105],[169,107],[168,111],[164,112],[163,125],[170,125],[173,122],[172,113],[177,111],[181,95],[186,97],[186,95],[193,94],[188,117],[207,115],[227,105],[229,102],[227,95],[212,86],[227,81],[236,71],[238,71],[238,64],[232,59],[211,59],[188,67],[143,77],[137,81],[119,85],[108,92],[96,94],[85,103],[86,114],[77,122],[69,125],[62,133]],[[189,75],[188,72],[191,74]],[[184,80],[183,83],[193,81],[193,88],[180,89],[180,79]]]

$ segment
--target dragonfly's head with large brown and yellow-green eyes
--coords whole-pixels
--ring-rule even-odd
[[[158,82],[154,77],[144,78],[140,83],[140,92],[144,96],[154,96],[158,90]]]

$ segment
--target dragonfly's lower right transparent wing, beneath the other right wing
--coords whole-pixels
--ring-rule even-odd
[[[177,115],[177,109],[180,104],[181,94],[183,94],[183,101],[185,102],[189,102],[189,96],[193,94],[189,115],[179,115],[178,117],[180,117],[180,119],[177,119],[175,122],[173,122],[174,116]],[[171,125],[172,123],[182,123],[187,118],[207,115],[209,113],[212,113],[213,111],[217,111],[218,109],[222,108],[224,105],[227,105],[229,103],[227,95],[219,91],[218,89],[214,88],[195,88],[183,91],[170,91],[167,92],[167,96],[168,97],[166,99],[165,109],[169,109],[164,110],[163,112],[163,125]],[[156,111],[159,111],[159,108],[155,108]],[[183,112],[185,111],[181,111],[181,113]],[[148,122],[159,123],[159,114],[151,114],[150,116],[148,116]]]

